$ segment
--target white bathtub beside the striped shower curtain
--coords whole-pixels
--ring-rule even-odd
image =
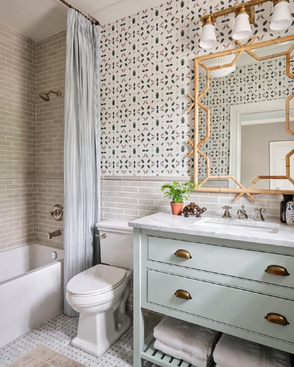
[[[0,348],[62,310],[62,249],[34,243],[0,252]]]

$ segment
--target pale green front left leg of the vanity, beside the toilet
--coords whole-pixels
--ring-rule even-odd
[[[144,349],[144,309],[141,308],[141,236],[134,228],[134,362],[133,367],[143,367],[141,352]]]

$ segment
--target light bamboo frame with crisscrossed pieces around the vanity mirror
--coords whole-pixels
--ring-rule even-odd
[[[241,57],[241,55],[246,52],[250,56],[252,56],[257,61],[263,61],[268,60],[272,58],[277,58],[280,56],[286,56],[286,75],[294,80],[294,75],[290,71],[290,53],[294,50],[294,44],[291,45],[291,47],[284,52],[280,52],[277,54],[272,54],[268,56],[258,57],[252,50],[271,46],[279,43],[283,43],[286,41],[293,41],[294,35],[281,37],[279,39],[273,39],[269,41],[264,41],[260,43],[254,43],[253,42],[257,39],[257,37],[253,37],[252,40],[248,42],[246,46],[241,44],[239,41],[236,41],[237,47],[233,48],[231,50],[226,50],[222,52],[218,52],[215,54],[209,54],[204,55],[200,57],[194,58],[194,77],[195,77],[195,85],[194,85],[194,97],[188,94],[188,97],[192,100],[192,104],[187,109],[187,112],[189,112],[194,107],[194,142],[191,141],[191,139],[188,139],[188,143],[191,145],[192,150],[187,154],[188,157],[193,155],[194,157],[194,183],[198,184],[198,157],[202,156],[206,160],[206,178],[199,183],[196,191],[202,191],[202,192],[228,192],[228,193],[236,193],[238,194],[234,200],[238,200],[243,195],[247,195],[252,199],[253,201],[257,201],[255,197],[252,196],[252,194],[292,194],[294,195],[294,190],[272,190],[272,189],[254,189],[253,186],[261,179],[285,179],[289,180],[294,185],[294,179],[290,177],[290,157],[294,155],[294,149],[291,150],[290,153],[286,155],[286,176],[257,176],[250,185],[245,188],[241,182],[239,182],[233,175],[223,175],[223,176],[213,176],[210,174],[210,159],[208,156],[206,156],[201,151],[201,145],[205,143],[210,138],[210,111],[209,108],[207,108],[204,104],[201,103],[202,97],[205,95],[205,93],[209,90],[209,73],[212,70],[227,68],[229,66],[233,66],[237,60]],[[213,59],[217,57],[222,57],[226,55],[236,54],[234,60],[231,63],[228,63],[226,65],[217,65],[208,67],[205,65],[204,61],[208,59]],[[206,70],[206,87],[203,91],[200,91],[200,81],[199,81],[199,67],[202,66]],[[294,136],[294,131],[290,129],[290,100],[294,98],[294,92],[289,95],[289,97],[286,99],[286,131]],[[203,109],[206,113],[206,135],[205,137],[199,142],[199,111],[200,109]],[[205,182],[207,182],[210,179],[231,179],[235,182],[235,184],[239,188],[208,188],[203,187]]]

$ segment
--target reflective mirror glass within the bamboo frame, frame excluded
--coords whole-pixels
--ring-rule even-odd
[[[294,149],[294,134],[286,131],[286,99],[294,80],[286,75],[286,56],[293,41],[252,50],[256,60],[243,53],[236,65],[210,72],[209,90],[201,103],[210,110],[210,138],[200,150],[210,158],[210,175],[233,175],[247,187],[257,176],[285,176],[286,155]],[[211,67],[232,62],[235,55],[205,60]],[[290,54],[294,72],[294,51]],[[200,93],[206,87],[206,70],[200,66]],[[294,98],[289,101],[290,130],[294,131]],[[206,112],[200,106],[199,142],[206,136]],[[294,178],[294,155],[290,157]],[[206,177],[206,161],[198,159],[199,181]],[[232,180],[207,181],[205,186],[238,187]],[[260,189],[294,190],[284,179],[262,179]]]

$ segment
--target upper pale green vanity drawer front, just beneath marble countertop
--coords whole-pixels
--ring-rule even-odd
[[[294,288],[293,256],[150,235],[147,236],[147,249],[149,261]],[[184,252],[176,256],[178,250]],[[188,253],[191,258],[179,257],[180,255],[189,257]],[[286,274],[289,275],[265,272],[270,265],[286,269]]]

